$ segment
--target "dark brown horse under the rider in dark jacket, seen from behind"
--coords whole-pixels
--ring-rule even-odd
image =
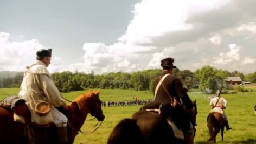
[[[196,102],[194,101],[193,104],[196,110]],[[151,102],[146,105],[146,108],[143,106],[138,112],[133,113],[131,118],[121,120],[110,133],[107,144],[186,143],[184,140],[174,136],[174,130],[171,128],[167,116],[171,116],[172,120],[177,122],[187,121],[190,125],[189,120],[175,119],[176,114],[180,111],[176,112],[176,109],[169,104],[156,106],[159,106],[157,102]],[[194,116],[196,114],[197,112],[194,113]],[[196,119],[193,118],[191,120]],[[195,123],[194,121],[192,122],[192,124]],[[184,123],[177,124],[176,126],[183,127],[183,125]]]

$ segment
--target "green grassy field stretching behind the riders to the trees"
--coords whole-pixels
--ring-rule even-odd
[[[256,143],[256,114],[253,111],[256,104],[256,87],[249,85],[249,92],[235,93],[235,94],[221,94],[227,99],[228,106],[226,113],[229,118],[229,124],[232,126],[231,131],[225,131],[224,142],[221,142],[220,133],[217,135],[217,143]],[[8,95],[18,93],[18,88],[0,88],[0,99]],[[252,91],[251,91],[252,90]],[[63,97],[69,100],[74,100],[78,95],[87,91],[77,91],[71,93],[62,93]],[[138,99],[151,99],[152,93],[147,91],[130,91],[130,90],[101,90],[101,100],[131,100],[133,96]],[[197,108],[199,114],[197,115],[197,132],[195,143],[207,143],[208,128],[206,123],[207,115],[210,112],[209,100],[205,99],[208,95],[200,92],[189,92],[192,100],[197,100]],[[84,135],[79,133],[76,136],[75,144],[90,143],[101,144],[106,143],[108,135],[113,127],[123,118],[129,118],[130,115],[138,111],[140,106],[126,106],[126,107],[107,107],[104,108],[106,116],[103,125],[94,133]],[[86,121],[81,130],[88,132],[93,129],[97,121]]]

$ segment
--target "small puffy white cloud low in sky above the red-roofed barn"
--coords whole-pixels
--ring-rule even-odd
[[[239,50],[241,47],[236,44],[229,44],[230,51],[227,53],[221,52],[219,57],[214,57],[215,64],[228,64],[233,61],[239,61]]]

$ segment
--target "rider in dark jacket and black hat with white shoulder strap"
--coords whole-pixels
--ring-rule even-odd
[[[185,106],[185,111],[189,114],[194,113],[193,103],[191,102],[187,89],[183,88],[179,79],[172,76],[173,69],[176,68],[172,63],[173,58],[165,58],[161,60],[163,74],[155,78],[153,82],[153,91],[155,94],[155,102],[163,102],[171,104],[173,107]],[[185,128],[185,141],[194,143],[193,126],[188,124]]]

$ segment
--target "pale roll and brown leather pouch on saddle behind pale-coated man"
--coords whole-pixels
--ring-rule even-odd
[[[8,109],[9,111],[13,111],[14,113],[14,121],[21,122],[25,124],[25,119],[23,115],[27,112],[26,101],[21,99],[17,95],[11,95],[0,101],[0,106]]]

